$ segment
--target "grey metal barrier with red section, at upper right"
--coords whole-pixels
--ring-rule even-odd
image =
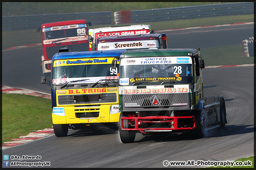
[[[227,4],[198,5],[174,8],[160,8],[152,10],[136,10],[114,12],[116,24],[145,23],[179,19],[195,19],[214,16],[248,15],[254,14],[254,2],[238,2]]]

